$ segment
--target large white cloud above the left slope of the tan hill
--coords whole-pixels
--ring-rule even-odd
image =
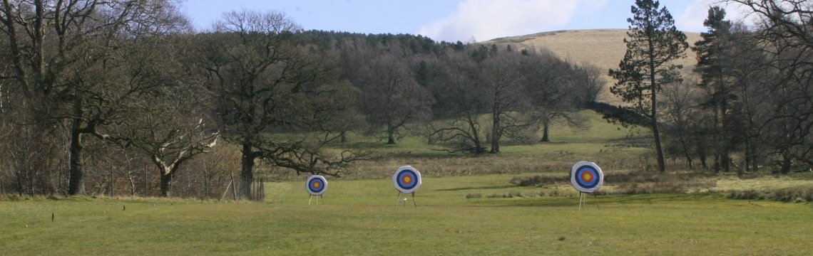
[[[588,0],[592,7],[606,0]],[[580,1],[561,0],[463,0],[446,19],[428,23],[420,35],[436,41],[487,41],[549,31],[571,22]]]

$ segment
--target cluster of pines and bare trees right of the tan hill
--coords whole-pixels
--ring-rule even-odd
[[[626,105],[605,117],[649,127],[662,172],[663,155],[715,172],[809,171],[813,3],[727,3],[749,10],[754,24],[732,22],[723,8],[711,6],[702,40],[686,42],[666,7],[637,0],[627,53],[609,73],[611,92]],[[681,74],[670,61],[688,50],[697,53],[697,67]]]

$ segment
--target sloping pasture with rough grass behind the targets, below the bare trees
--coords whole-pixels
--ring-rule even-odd
[[[461,175],[484,175],[503,173],[535,173],[569,170],[572,164],[580,160],[590,160],[610,169],[646,169],[648,164],[655,164],[649,148],[634,147],[633,143],[643,138],[646,130],[629,130],[619,125],[607,123],[601,114],[591,110],[579,113],[588,122],[584,129],[574,129],[561,122],[554,122],[550,127],[550,143],[520,143],[512,139],[502,139],[499,154],[474,156],[469,153],[450,153],[441,151],[446,147],[440,144],[428,144],[420,134],[412,134],[398,139],[395,145],[385,144],[385,140],[371,139],[359,134],[350,135],[350,143],[332,145],[335,151],[346,148],[366,149],[373,151],[376,160],[359,162],[354,168],[344,170],[342,178],[350,179],[384,179],[391,177],[400,165],[411,164],[424,166],[421,173],[428,177],[446,177]],[[480,117],[480,123],[488,123],[489,118]],[[440,122],[436,121],[436,125]],[[541,139],[541,133],[537,134]],[[485,131],[481,134],[484,146]],[[682,168],[682,167],[681,167]],[[305,176],[292,173],[272,173],[269,180],[294,181]]]

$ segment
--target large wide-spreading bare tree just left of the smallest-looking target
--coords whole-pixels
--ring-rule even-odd
[[[232,11],[199,35],[200,65],[207,77],[212,109],[224,139],[241,147],[240,194],[250,196],[256,160],[305,173],[339,175],[359,155],[330,156],[322,147],[337,136],[324,105],[336,92],[335,72],[325,59],[299,47],[300,30],[279,12]],[[327,107],[327,108],[325,108]],[[320,131],[316,136],[279,136]],[[328,135],[333,134],[333,135]]]

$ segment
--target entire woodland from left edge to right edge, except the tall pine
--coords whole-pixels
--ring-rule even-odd
[[[702,79],[657,84],[654,119],[596,102],[606,70],[545,49],[305,31],[275,11],[196,32],[176,4],[2,1],[0,193],[250,198],[260,169],[339,175],[375,157],[341,149],[349,134],[499,153],[580,126],[580,109],[654,120],[668,156],[706,169],[811,164],[806,3],[742,2],[757,28],[712,9]]]

